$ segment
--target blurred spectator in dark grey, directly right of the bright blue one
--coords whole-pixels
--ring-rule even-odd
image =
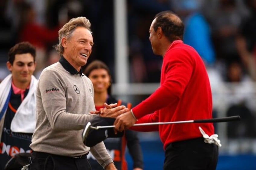
[[[244,13],[240,10],[236,0],[218,0],[216,7],[208,16],[213,28],[213,42],[217,57],[225,63],[233,59],[238,60],[235,37]]]

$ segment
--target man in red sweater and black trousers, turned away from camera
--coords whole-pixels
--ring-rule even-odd
[[[162,55],[160,87],[132,110],[117,117],[117,131],[135,123],[211,119],[212,93],[203,60],[197,51],[183,43],[184,24],[171,11],[155,16],[149,40],[156,55]],[[199,126],[209,136],[213,123],[184,123],[133,126],[136,131],[159,131],[164,144],[164,170],[215,169],[218,146],[204,142]]]

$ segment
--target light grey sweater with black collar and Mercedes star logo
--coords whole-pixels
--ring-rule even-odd
[[[60,156],[80,156],[91,151],[104,168],[113,162],[103,142],[86,147],[82,131],[94,118],[94,89],[82,70],[77,72],[64,57],[46,67],[37,91],[36,129],[30,147],[37,152]]]

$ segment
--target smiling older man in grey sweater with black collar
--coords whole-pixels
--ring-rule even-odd
[[[90,148],[82,141],[84,125],[98,116],[90,114],[95,111],[94,90],[81,69],[93,45],[90,26],[85,17],[66,23],[59,30],[59,44],[55,47],[61,58],[40,75],[37,122],[30,145],[33,150],[31,169],[90,170],[86,159],[89,150],[104,169],[116,169],[103,142]],[[125,106],[112,104],[104,111],[111,116],[127,110]]]

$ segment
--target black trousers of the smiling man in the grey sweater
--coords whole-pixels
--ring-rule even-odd
[[[69,157],[33,151],[29,170],[91,170],[86,155]]]

